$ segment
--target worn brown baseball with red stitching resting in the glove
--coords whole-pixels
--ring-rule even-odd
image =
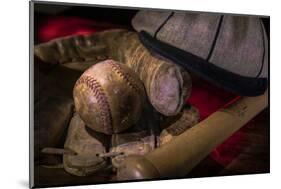
[[[138,121],[145,91],[129,67],[106,60],[87,69],[73,90],[76,111],[95,131],[120,133]]]

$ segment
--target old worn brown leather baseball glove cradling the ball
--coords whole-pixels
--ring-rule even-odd
[[[44,144],[40,148],[43,148],[43,154],[63,155],[62,164],[53,167],[64,168],[70,174],[87,176],[111,166],[118,169],[124,157],[149,153],[198,121],[198,111],[184,107],[191,91],[189,74],[178,65],[147,51],[135,32],[109,30],[55,39],[35,46],[35,56],[40,65],[51,67],[50,73],[64,70],[69,73],[66,75],[72,75],[70,79],[55,81],[56,85],[60,83],[58,88],[65,91],[65,96],[71,94],[83,71],[109,58],[129,66],[137,73],[146,90],[148,100],[139,122],[123,133],[112,136],[97,133],[87,127],[76,113],[73,114],[73,110],[70,111],[70,117],[72,114],[73,117],[69,126],[61,124],[62,130],[68,129],[64,146],[58,147],[56,143]],[[41,127],[44,129],[45,125]],[[173,132],[179,130],[181,132]]]

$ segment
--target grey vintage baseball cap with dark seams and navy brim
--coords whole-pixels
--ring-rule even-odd
[[[139,11],[143,45],[201,78],[241,96],[267,89],[268,38],[259,16]]]

